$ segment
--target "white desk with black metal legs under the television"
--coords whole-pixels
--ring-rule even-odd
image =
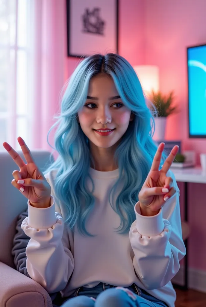
[[[188,183],[205,183],[206,184],[206,172],[204,172],[201,167],[190,167],[190,168],[173,168],[170,167],[170,170],[174,173],[175,179],[178,182],[184,182],[184,190],[185,190],[185,197],[184,197],[184,207],[185,207],[185,218],[184,220],[188,222]],[[185,285],[179,286],[175,285],[177,288],[187,290],[188,289],[188,244],[187,239],[185,240],[185,247],[186,247],[186,255],[185,255]]]

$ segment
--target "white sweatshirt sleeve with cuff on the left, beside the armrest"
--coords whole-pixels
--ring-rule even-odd
[[[32,207],[28,200],[28,217],[21,228],[30,238],[26,247],[29,276],[48,293],[63,290],[74,270],[74,258],[63,218],[55,212],[55,197],[51,195],[48,208]]]

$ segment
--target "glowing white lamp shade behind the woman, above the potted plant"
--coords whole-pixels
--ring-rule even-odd
[[[136,65],[133,67],[143,91],[146,95],[150,95],[151,91],[159,91],[159,68],[154,65]]]

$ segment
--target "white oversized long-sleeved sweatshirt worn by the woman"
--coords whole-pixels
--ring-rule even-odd
[[[93,214],[86,229],[95,237],[84,237],[67,230],[63,223],[65,211],[54,192],[56,171],[46,174],[50,184],[51,206],[32,207],[28,200],[28,217],[21,228],[31,239],[26,247],[26,268],[32,279],[48,293],[61,291],[68,297],[81,286],[88,288],[100,282],[113,286],[135,283],[148,293],[174,307],[176,292],[171,279],[179,270],[179,261],[186,249],[182,240],[179,188],[155,216],[142,216],[139,202],[135,204],[136,220],[129,235],[120,235],[120,217],[109,204],[109,188],[118,178],[119,170],[101,172],[90,168],[96,198]],[[88,187],[91,189],[90,181]],[[91,190],[90,190],[91,191]],[[116,200],[116,198],[115,198]]]

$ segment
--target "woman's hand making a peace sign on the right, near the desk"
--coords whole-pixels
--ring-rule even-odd
[[[164,205],[166,200],[176,192],[176,189],[171,187],[173,179],[167,177],[166,173],[174,161],[179,146],[175,145],[173,147],[169,156],[162,165],[162,169],[159,170],[164,146],[164,143],[159,144],[152,162],[151,170],[139,192],[139,206],[141,214],[144,216],[158,214],[159,209]]]

